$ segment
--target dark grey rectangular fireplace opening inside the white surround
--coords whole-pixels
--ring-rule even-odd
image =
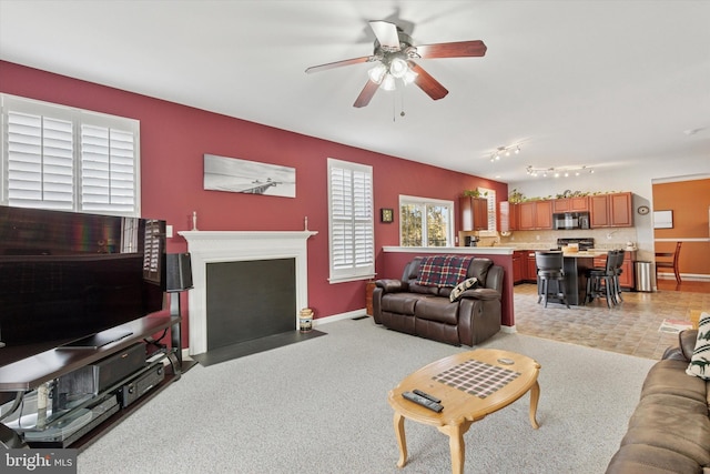
[[[295,259],[206,264],[207,350],[296,331]]]

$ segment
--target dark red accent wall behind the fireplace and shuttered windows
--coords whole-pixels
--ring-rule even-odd
[[[308,240],[308,305],[316,319],[365,307],[364,281],[327,281],[327,158],[374,168],[377,215],[381,208],[396,210],[399,194],[456,201],[463,190],[485,186],[496,190],[499,200],[508,195],[504,183],[6,61],[0,61],[0,91],[140,120],[142,214],[173,225],[169,252],[186,250],[176,233],[191,228],[193,211],[197,228],[205,231],[303,230],[307,215],[308,229],[318,231]],[[295,168],[296,198],[205,191],[204,153]],[[398,241],[395,212],[394,223],[375,226],[377,268],[383,264],[382,246]],[[185,325],[183,342],[187,331]]]

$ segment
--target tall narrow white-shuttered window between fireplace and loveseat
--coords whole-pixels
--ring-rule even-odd
[[[331,283],[373,278],[373,169],[328,159]]]

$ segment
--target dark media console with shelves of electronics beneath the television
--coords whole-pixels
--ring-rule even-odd
[[[158,346],[146,354],[144,345],[155,346],[151,336],[165,330],[171,331],[171,347]],[[24,359],[13,353],[14,362],[0,366],[0,392],[14,394],[0,413],[0,446],[85,448],[180,379],[180,316],[144,316],[105,332],[129,335],[98,347],[57,346]],[[0,360],[7,349],[0,349]],[[51,396],[48,391],[53,391]],[[8,441],[12,433],[6,424],[12,426],[21,406],[22,417],[44,430],[30,430]],[[28,407],[34,413],[28,413]]]

